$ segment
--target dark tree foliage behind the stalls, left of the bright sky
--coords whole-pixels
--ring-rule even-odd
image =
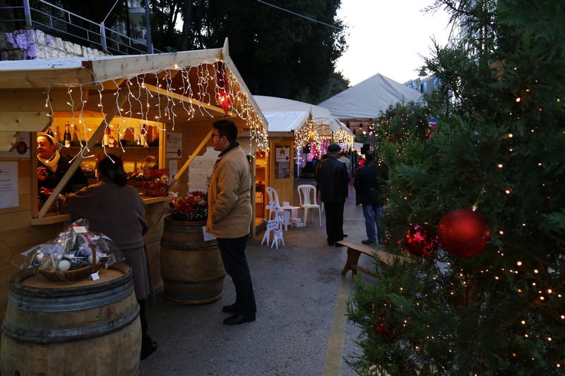
[[[343,28],[336,18],[340,0],[270,1],[288,11]],[[222,47],[251,92],[319,103],[348,83],[335,73],[345,49],[345,31],[287,13],[256,0],[193,1],[187,47]]]

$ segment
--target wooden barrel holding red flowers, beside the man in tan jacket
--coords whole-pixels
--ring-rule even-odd
[[[225,269],[215,239],[204,240],[206,222],[165,218],[161,238],[161,277],[165,298],[180,305],[217,301]]]

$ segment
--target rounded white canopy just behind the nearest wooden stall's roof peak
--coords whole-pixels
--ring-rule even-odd
[[[349,129],[332,116],[328,109],[316,106],[315,104],[299,102],[292,99],[266,97],[263,95],[254,95],[253,97],[263,114],[265,112],[306,111],[308,114],[312,114],[314,122],[319,125],[318,131],[320,135],[329,135],[331,132],[339,131],[340,129],[350,133]],[[270,131],[270,120],[268,120],[268,123]]]

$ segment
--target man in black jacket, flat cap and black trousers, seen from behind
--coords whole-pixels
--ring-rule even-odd
[[[335,246],[335,242],[343,241],[343,207],[350,179],[345,163],[338,159],[340,150],[338,144],[329,145],[328,158],[318,162],[316,169],[316,186],[326,210],[328,245]]]

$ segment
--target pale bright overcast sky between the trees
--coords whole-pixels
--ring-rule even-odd
[[[348,25],[349,48],[337,69],[351,85],[381,73],[398,83],[417,78],[432,36],[447,43],[451,25],[445,11],[422,13],[433,0],[342,0],[338,17]]]

